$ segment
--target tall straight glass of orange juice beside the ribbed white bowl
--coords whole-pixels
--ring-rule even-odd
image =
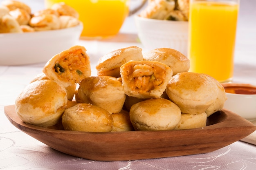
[[[190,0],[190,71],[232,80],[239,0]]]

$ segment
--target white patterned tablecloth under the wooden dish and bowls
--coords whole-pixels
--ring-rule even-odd
[[[38,2],[42,3],[42,0]],[[256,13],[253,8],[256,6],[255,2],[254,0],[241,0],[235,53],[235,82],[256,84],[256,24],[254,23]],[[36,4],[36,7],[41,6]],[[102,55],[132,45],[143,49],[143,46],[137,42],[132,17],[126,20],[116,38],[109,41],[81,40],[78,44],[85,46],[88,50],[92,75],[96,75],[95,65]],[[81,159],[49,148],[18,130],[4,115],[4,106],[14,104],[16,97],[31,79],[36,74],[42,73],[44,64],[0,66],[0,169],[256,170],[256,146],[243,141],[236,141],[214,152],[200,155],[109,162]]]

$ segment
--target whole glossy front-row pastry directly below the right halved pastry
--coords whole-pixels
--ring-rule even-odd
[[[180,118],[180,108],[163,98],[144,100],[130,109],[130,120],[135,130],[173,130]]]

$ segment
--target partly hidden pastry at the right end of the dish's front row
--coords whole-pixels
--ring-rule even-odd
[[[206,121],[207,114],[205,112],[200,114],[181,113],[181,119],[174,129],[181,130],[203,128],[206,126]]]

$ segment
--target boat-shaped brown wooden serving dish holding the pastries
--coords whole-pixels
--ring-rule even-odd
[[[189,130],[77,132],[42,128],[21,121],[14,105],[4,113],[14,126],[60,152],[98,161],[124,161],[212,152],[256,130],[246,119],[223,109],[207,126]]]

